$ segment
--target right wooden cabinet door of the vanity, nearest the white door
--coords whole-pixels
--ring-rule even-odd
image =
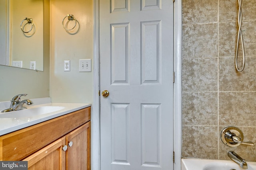
[[[66,170],[91,169],[91,122],[78,127],[66,135]]]

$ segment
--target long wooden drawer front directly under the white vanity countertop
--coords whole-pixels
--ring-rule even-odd
[[[21,160],[90,121],[91,107],[0,136],[0,160]]]

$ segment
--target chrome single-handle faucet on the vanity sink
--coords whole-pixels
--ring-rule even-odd
[[[21,96],[27,96],[28,94],[18,94],[16,96],[14,96],[11,100],[11,105],[9,109],[5,109],[1,112],[8,112],[8,111],[14,111],[14,110],[22,110],[22,109],[26,109],[27,107],[23,107],[24,104],[30,105],[33,104],[33,102],[31,100],[22,100],[20,101]]]

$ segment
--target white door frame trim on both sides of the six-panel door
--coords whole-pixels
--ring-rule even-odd
[[[100,170],[100,54],[99,54],[99,0],[94,0],[94,89],[92,104],[92,170]],[[182,55],[182,0],[174,2],[174,170],[181,169],[182,150],[182,88],[181,88],[181,55]]]

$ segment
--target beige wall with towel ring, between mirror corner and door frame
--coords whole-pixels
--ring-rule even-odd
[[[78,21],[74,30],[62,27],[67,14]],[[79,72],[79,59],[93,59],[93,0],[51,0],[50,16],[52,102],[92,103],[93,61],[92,72]],[[70,72],[64,72],[64,60],[70,60]]]

